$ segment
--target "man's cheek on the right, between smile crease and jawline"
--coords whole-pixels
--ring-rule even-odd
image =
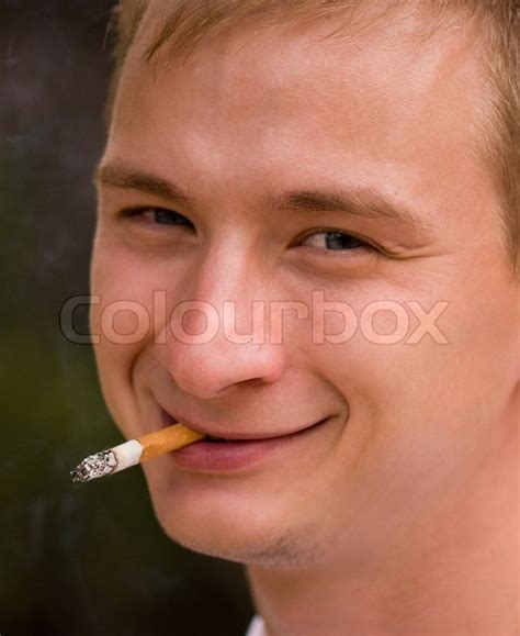
[[[489,286],[497,290],[493,302],[467,287],[437,294],[450,299],[436,323],[445,344],[429,334],[407,343],[415,321],[396,344],[372,343],[358,331],[346,344],[314,347],[315,368],[349,403],[339,455],[348,457],[355,445],[363,483],[382,496],[387,483],[408,496],[462,472],[507,403],[515,380],[512,299],[507,302],[498,281]],[[429,310],[437,299],[422,298],[421,304]],[[374,326],[384,332],[392,325],[385,320]]]

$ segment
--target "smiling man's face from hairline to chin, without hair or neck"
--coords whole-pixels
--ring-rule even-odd
[[[126,63],[102,163],[182,197],[129,170],[100,187],[92,330],[115,422],[126,437],[165,413],[267,437],[323,421],[230,468],[144,465],[160,523],[192,549],[264,565],[388,549],[440,514],[500,433],[515,287],[474,152],[473,35],[461,21],[421,40],[423,18],[397,18],[331,40],[332,22],[242,29],[183,64],[152,68],[136,49]],[[334,342],[338,311],[320,327],[319,299],[352,310],[351,337]],[[114,301],[138,302],[154,328],[111,342],[110,325],[146,323],[111,321]],[[184,301],[215,314],[172,314]],[[225,301],[238,334],[257,301],[263,335],[224,334]],[[302,310],[282,312],[281,337],[273,306]],[[218,333],[190,343],[215,315]]]

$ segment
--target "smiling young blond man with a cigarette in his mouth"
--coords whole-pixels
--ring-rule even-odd
[[[516,2],[123,0],[118,34],[103,392],[128,438],[239,439],[145,465],[165,531],[245,564],[251,633],[513,636]]]

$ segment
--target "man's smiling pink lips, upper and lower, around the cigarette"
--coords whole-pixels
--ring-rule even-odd
[[[229,473],[236,472],[251,466],[259,464],[263,459],[268,459],[273,455],[289,451],[297,456],[298,448],[303,448],[303,444],[308,444],[307,437],[314,436],[315,431],[321,427],[329,419],[326,417],[301,428],[298,431],[290,432],[267,437],[260,436],[244,436],[238,437],[238,433],[234,433],[234,439],[226,437],[226,434],[211,432],[211,435],[224,437],[226,442],[211,442],[207,438],[189,446],[184,446],[179,450],[168,454],[168,457],[174,462],[178,468],[195,472],[212,472],[212,473]],[[171,415],[163,412],[162,423],[165,426],[173,424],[176,421]],[[194,425],[182,420],[182,423],[201,433],[206,433],[204,426]],[[208,433],[208,432],[207,432]]]

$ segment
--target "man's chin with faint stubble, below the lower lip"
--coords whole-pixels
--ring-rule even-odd
[[[240,483],[171,471],[160,459],[143,468],[157,521],[174,543],[245,565],[316,562],[323,528],[298,510],[290,489],[274,494],[261,478]]]

